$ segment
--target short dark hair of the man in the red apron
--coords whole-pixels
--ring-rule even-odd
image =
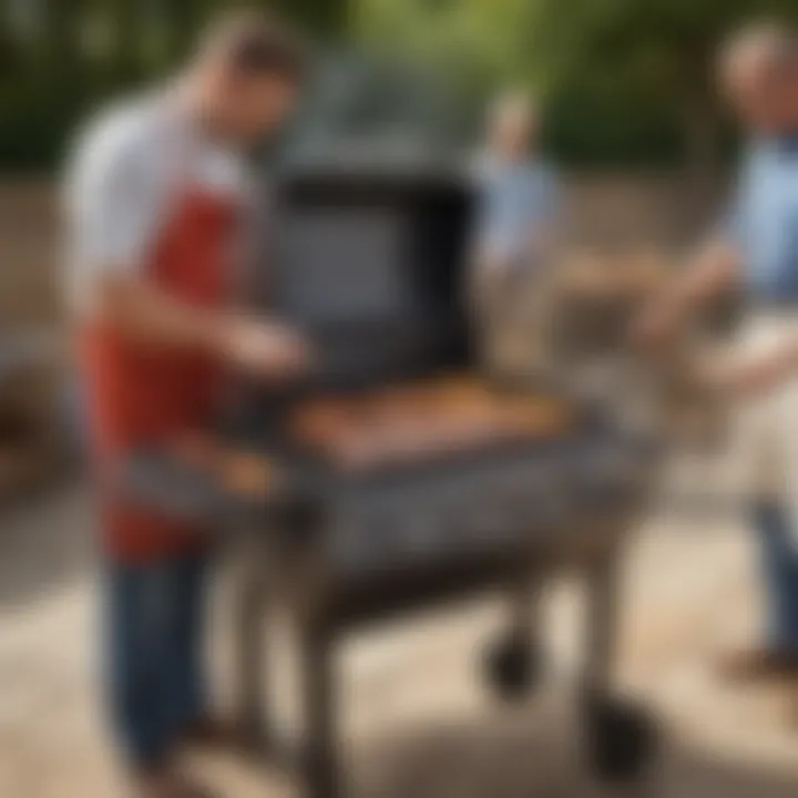
[[[235,70],[253,75],[278,75],[305,81],[308,54],[304,40],[283,21],[257,10],[227,12],[207,29],[201,57],[224,59]]]

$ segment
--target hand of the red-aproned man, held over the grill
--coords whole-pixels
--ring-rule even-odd
[[[288,379],[301,374],[309,352],[301,337],[276,323],[235,318],[225,326],[222,349],[250,375]]]

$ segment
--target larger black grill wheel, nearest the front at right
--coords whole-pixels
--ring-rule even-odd
[[[585,702],[584,724],[585,753],[597,778],[628,782],[645,776],[658,747],[648,712],[631,702],[592,697]]]

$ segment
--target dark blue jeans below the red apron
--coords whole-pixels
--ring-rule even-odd
[[[205,709],[206,555],[113,563],[106,656],[113,725],[130,764],[157,767]]]

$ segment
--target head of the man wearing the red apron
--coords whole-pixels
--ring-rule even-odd
[[[208,29],[190,68],[188,86],[218,135],[252,144],[290,114],[305,72],[298,39],[272,18],[244,11]]]

